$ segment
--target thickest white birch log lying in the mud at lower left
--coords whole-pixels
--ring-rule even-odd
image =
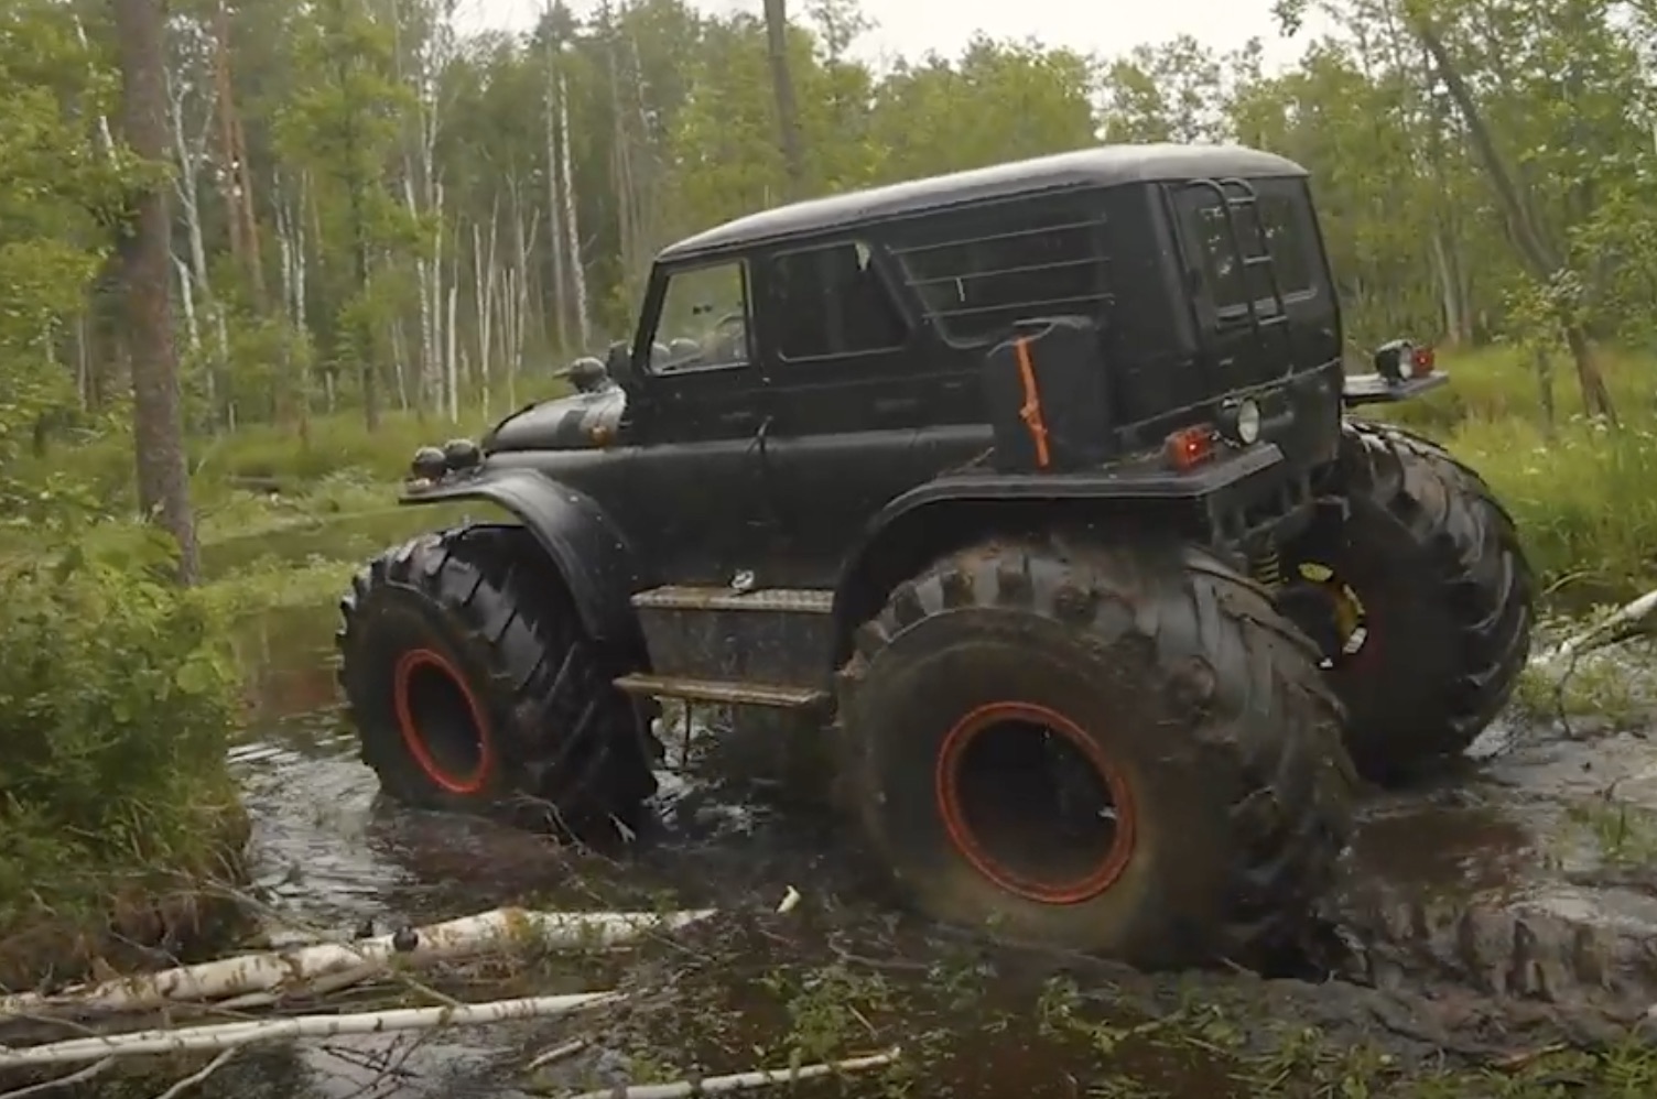
[[[232,996],[242,998],[237,1006],[260,1006],[273,1000],[273,993],[305,990],[318,981],[336,990],[340,980],[348,980],[351,975],[366,980],[394,965],[452,962],[512,943],[539,943],[553,950],[611,948],[635,942],[648,932],[679,930],[709,915],[713,909],[666,914],[495,909],[351,943],[262,950],[159,973],[81,985],[58,993],[3,996],[0,1021],[63,1008],[152,1011],[174,1003],[219,1001]]]

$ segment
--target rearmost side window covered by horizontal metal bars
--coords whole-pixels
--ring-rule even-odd
[[[943,334],[983,344],[1036,316],[1104,324],[1104,233],[1097,195],[1022,197],[928,218],[898,258]]]

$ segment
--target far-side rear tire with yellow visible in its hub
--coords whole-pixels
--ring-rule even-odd
[[[1326,655],[1359,771],[1390,783],[1460,756],[1529,657],[1536,581],[1513,520],[1435,444],[1347,422],[1327,510],[1284,553],[1279,599]]]

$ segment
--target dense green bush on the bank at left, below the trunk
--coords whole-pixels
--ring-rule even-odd
[[[128,550],[0,569],[0,933],[210,874],[237,839],[220,624],[144,576],[167,566],[154,541]]]

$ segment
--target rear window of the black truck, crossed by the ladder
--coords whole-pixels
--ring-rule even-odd
[[[1271,280],[1264,268],[1249,270],[1244,283],[1243,265],[1231,230],[1226,227],[1226,210],[1220,195],[1208,189],[1193,189],[1185,202],[1185,228],[1200,255],[1203,278],[1215,298],[1215,308],[1223,314],[1241,313],[1249,298],[1256,308],[1271,308]],[[1312,240],[1307,233],[1306,202],[1283,192],[1264,190],[1259,195],[1259,225],[1266,230],[1266,247],[1271,250],[1278,286],[1284,298],[1311,295],[1317,288],[1312,275]],[[1238,240],[1248,255],[1259,255],[1261,242],[1254,217],[1248,209],[1234,209]]]

